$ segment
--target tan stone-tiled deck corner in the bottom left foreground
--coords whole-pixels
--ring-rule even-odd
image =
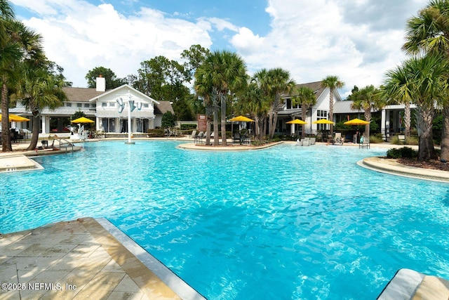
[[[205,299],[105,219],[0,238],[0,299]]]

